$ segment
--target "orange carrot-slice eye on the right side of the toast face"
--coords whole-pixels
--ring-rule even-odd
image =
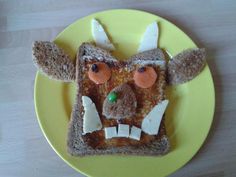
[[[134,82],[140,88],[150,88],[157,79],[157,73],[153,67],[137,68],[134,72]]]

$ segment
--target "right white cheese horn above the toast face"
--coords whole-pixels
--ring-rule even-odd
[[[159,30],[157,22],[153,22],[148,25],[141,39],[138,52],[144,52],[157,48],[158,33]]]

